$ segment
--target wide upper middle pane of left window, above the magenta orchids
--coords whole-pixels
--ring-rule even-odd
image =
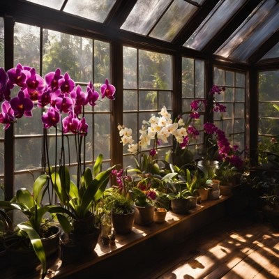
[[[43,75],[61,69],[75,82],[92,79],[92,40],[43,29]],[[103,79],[104,83],[105,80]]]

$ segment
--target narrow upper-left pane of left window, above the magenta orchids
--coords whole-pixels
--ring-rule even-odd
[[[14,66],[21,63],[40,73],[40,28],[15,22]]]

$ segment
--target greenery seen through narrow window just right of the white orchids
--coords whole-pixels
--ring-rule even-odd
[[[182,57],[182,112],[190,111],[190,103],[193,100],[203,100],[206,98],[204,91],[204,61]],[[199,131],[196,142],[191,142],[189,150],[195,153],[195,148],[202,149],[204,142],[204,112],[199,110],[199,119],[195,120],[195,128]],[[183,120],[189,114],[183,115]]]

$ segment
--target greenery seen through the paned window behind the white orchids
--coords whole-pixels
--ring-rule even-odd
[[[133,139],[140,138],[142,121],[158,116],[163,106],[172,113],[172,56],[123,47],[123,125],[133,130]],[[171,140],[160,143],[158,158],[164,159],[170,146]],[[142,151],[149,154],[152,148],[151,142]],[[123,146],[124,167],[135,165],[127,149]]]

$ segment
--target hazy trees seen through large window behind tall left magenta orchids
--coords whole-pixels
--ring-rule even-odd
[[[40,33],[43,33],[43,45],[40,45]],[[61,68],[62,75],[67,72],[70,78],[77,81],[76,86],[79,84],[83,91],[86,91],[86,84],[92,80],[95,90],[100,93],[100,85],[105,83],[105,78],[110,80],[110,43],[47,29],[41,30],[39,27],[17,22],[15,23],[14,43],[15,66],[18,63],[32,66],[43,76],[55,71],[56,68]],[[43,57],[40,57],[40,52],[43,53]],[[40,64],[40,59],[42,64]],[[12,91],[11,97],[13,98],[16,93],[16,91]],[[18,188],[29,188],[33,185],[33,176],[36,179],[42,174],[44,161],[43,125],[40,121],[42,114],[43,110],[35,104],[33,117],[18,119],[15,125],[15,191]],[[108,100],[98,102],[93,108],[89,105],[86,106],[84,117],[89,125],[85,149],[86,165],[92,165],[98,154],[103,153],[103,169],[110,167],[111,114],[112,110]],[[50,163],[54,165],[55,154],[52,149],[55,145],[55,131],[50,128],[47,133]],[[59,136],[61,136],[61,123]],[[74,135],[69,133],[67,138],[66,149],[68,146],[73,146],[75,142]],[[70,156],[66,158],[66,163],[70,163],[70,174],[75,174],[77,167],[74,152],[70,150]],[[57,158],[59,158],[59,154]],[[58,160],[57,165],[59,165]]]

